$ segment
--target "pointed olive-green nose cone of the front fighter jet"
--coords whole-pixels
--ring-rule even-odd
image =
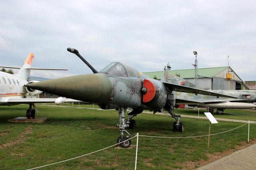
[[[98,104],[108,102],[112,93],[111,81],[102,73],[51,79],[27,84],[26,87]]]

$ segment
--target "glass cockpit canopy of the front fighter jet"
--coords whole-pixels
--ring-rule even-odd
[[[102,69],[100,73],[106,73],[109,75],[115,75],[118,77],[138,77],[138,78],[148,78],[143,73],[134,69],[126,63],[113,62],[110,63],[107,67]]]

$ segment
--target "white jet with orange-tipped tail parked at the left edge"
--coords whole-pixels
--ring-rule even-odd
[[[3,68],[19,69],[17,74],[9,74],[0,71],[0,105],[19,105],[19,104],[29,104],[29,109],[26,112],[27,119],[34,119],[35,114],[38,113],[36,105],[34,103],[51,103],[55,102],[60,104],[62,102],[75,102],[74,99],[64,99],[59,97],[57,99],[51,98],[25,98],[27,93],[38,95],[42,91],[36,89],[31,89],[24,87],[24,84],[35,83],[38,81],[29,81],[30,70],[68,70],[68,69],[48,69],[48,68],[32,68],[31,64],[34,59],[34,54],[30,53],[27,59],[24,61],[22,67],[10,67],[10,66],[0,66]],[[34,109],[32,109],[32,106]]]

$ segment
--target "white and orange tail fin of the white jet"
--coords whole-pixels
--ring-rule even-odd
[[[19,72],[17,75],[19,75],[20,77],[28,80],[29,76],[30,76],[30,70],[26,69],[26,68],[30,68],[32,61],[34,59],[35,55],[33,53],[30,53],[27,57],[27,59],[24,61],[24,64],[22,65],[22,67],[20,68]]]

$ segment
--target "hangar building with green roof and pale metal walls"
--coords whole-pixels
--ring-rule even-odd
[[[164,71],[144,73],[152,79],[160,80]],[[194,69],[171,70],[170,74],[178,75],[194,83]],[[245,90],[249,89],[231,67],[212,67],[198,69],[198,86],[206,90]]]

